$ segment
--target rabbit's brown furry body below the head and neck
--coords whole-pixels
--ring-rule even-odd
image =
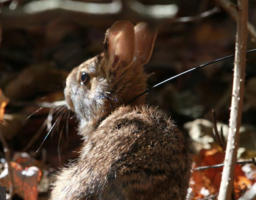
[[[185,200],[187,137],[158,109],[120,107],[89,141],[58,177],[52,200]]]

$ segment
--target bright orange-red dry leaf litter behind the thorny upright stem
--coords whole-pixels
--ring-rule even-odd
[[[213,148],[210,150],[202,149],[198,156],[194,156],[194,168],[198,166],[211,166],[223,163],[225,153],[222,149],[213,144]],[[221,168],[209,168],[202,171],[193,171],[190,187],[194,194],[193,199],[203,198],[208,195],[215,195],[219,191],[221,183]],[[234,176],[234,189],[236,193],[236,199],[238,199],[245,191],[247,187],[250,188],[254,180],[247,178],[245,172],[240,165],[236,165]],[[203,197],[202,197],[203,196]]]

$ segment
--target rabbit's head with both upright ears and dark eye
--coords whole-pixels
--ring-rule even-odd
[[[146,90],[143,65],[150,59],[155,36],[146,23],[133,27],[130,22],[116,22],[106,32],[104,52],[71,71],[64,93],[81,123],[99,123]],[[132,105],[143,101],[140,97]]]

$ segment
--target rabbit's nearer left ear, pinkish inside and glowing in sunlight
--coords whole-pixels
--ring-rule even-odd
[[[130,22],[119,21],[106,32],[106,58],[111,70],[131,65],[135,54],[135,34]]]

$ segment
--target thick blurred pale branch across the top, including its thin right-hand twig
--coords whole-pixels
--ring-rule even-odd
[[[135,0],[113,0],[112,3],[89,3],[71,0],[37,0],[18,5],[13,10],[3,7],[0,21],[3,28],[24,28],[44,25],[55,19],[68,19],[94,27],[109,27],[117,20],[159,24],[195,22],[219,12],[218,7],[196,16],[174,17],[178,7],[169,5],[144,5]]]

